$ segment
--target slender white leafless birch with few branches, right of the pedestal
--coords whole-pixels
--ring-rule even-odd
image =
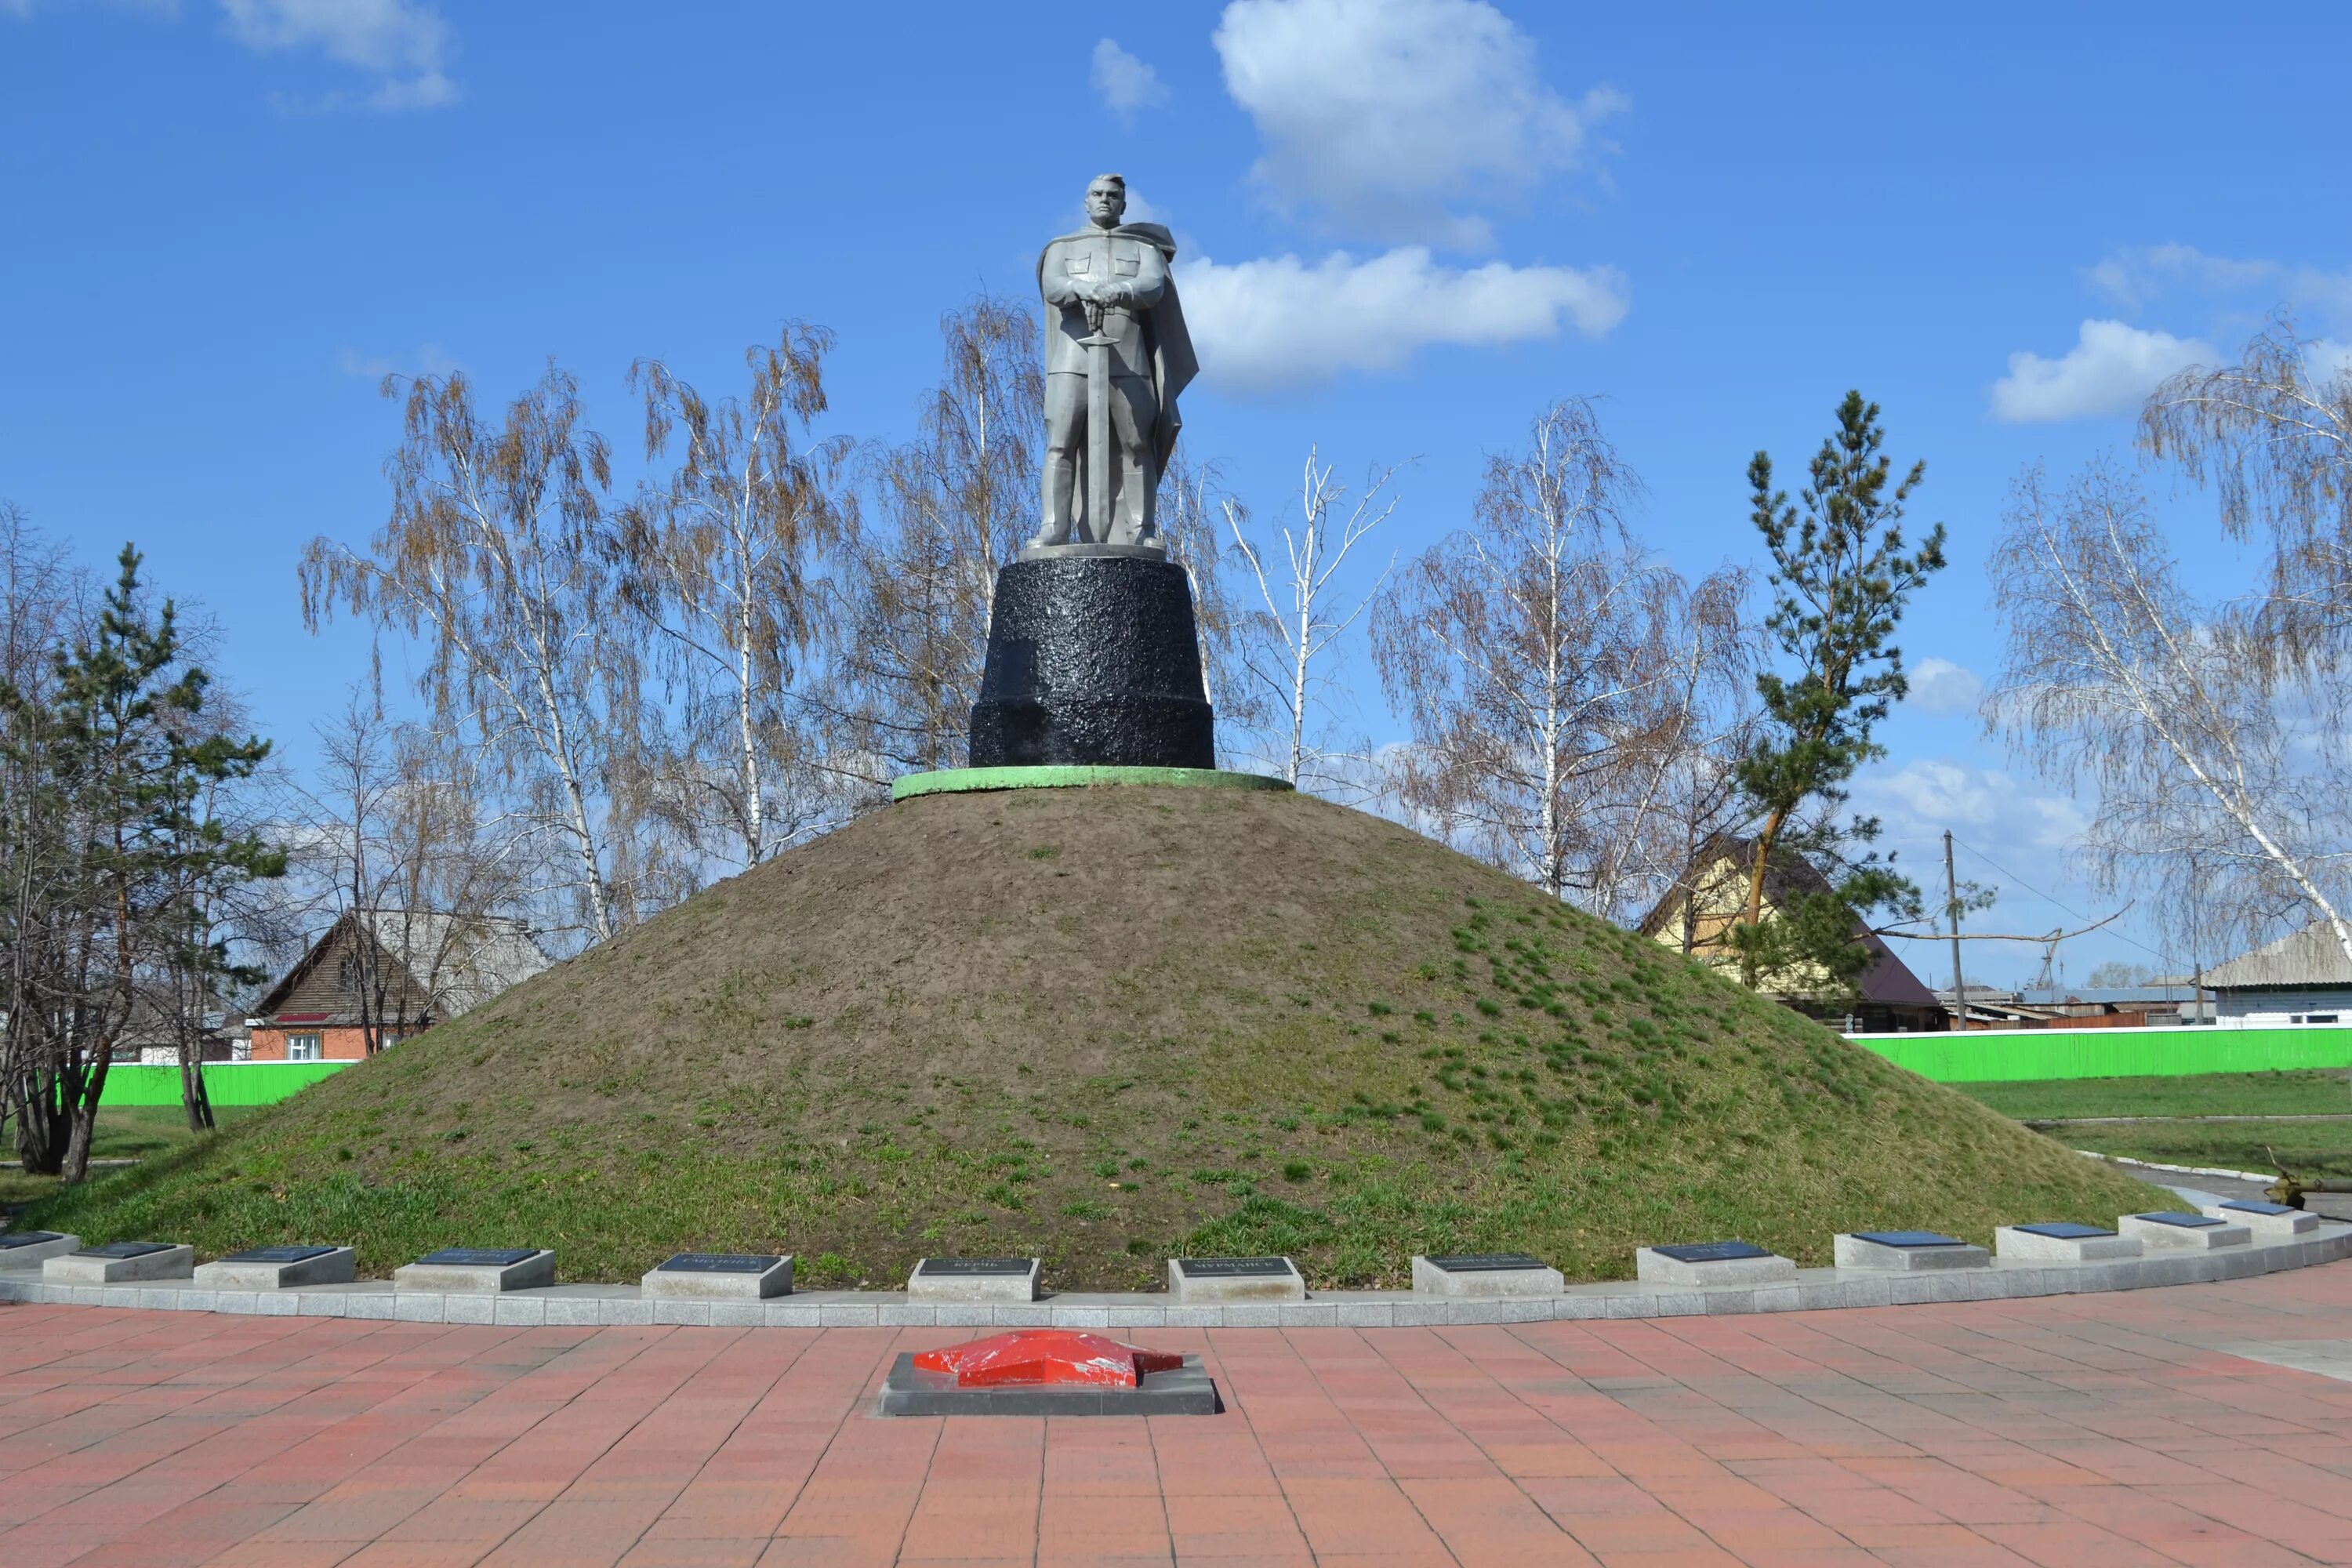
[[[1308,715],[1324,701],[1331,663],[1327,656],[1388,581],[1383,567],[1374,585],[1343,609],[1345,595],[1336,578],[1348,555],[1397,510],[1390,491],[1395,475],[1395,468],[1374,465],[1364,489],[1350,494],[1322,463],[1322,449],[1308,447],[1305,470],[1298,477],[1298,522],[1279,524],[1279,557],[1272,531],[1251,538],[1256,529],[1249,512],[1235,501],[1223,505],[1225,527],[1263,607],[1258,621],[1263,635],[1249,642],[1244,668],[1279,726],[1277,771],[1294,785],[1324,762],[1324,748],[1310,745]]]

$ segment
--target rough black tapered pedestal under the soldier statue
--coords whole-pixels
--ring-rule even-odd
[[[1157,550],[1035,550],[997,574],[971,766],[1214,769],[1192,588]]]

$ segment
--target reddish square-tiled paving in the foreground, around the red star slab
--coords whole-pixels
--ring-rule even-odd
[[[955,1338],[0,1307],[0,1563],[2352,1563],[2352,1380],[2291,1366],[2352,1375],[2352,1262],[1155,1331],[1225,1415],[868,1415],[894,1352]]]

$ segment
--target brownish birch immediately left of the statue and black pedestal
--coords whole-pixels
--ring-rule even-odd
[[[840,548],[818,693],[840,762],[877,795],[898,771],[962,766],[997,569],[1037,531],[1044,371],[1035,310],[983,296],[941,320],[946,374],[915,440],[866,461]]]

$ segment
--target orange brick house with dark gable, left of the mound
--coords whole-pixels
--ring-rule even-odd
[[[252,1060],[350,1063],[456,1018],[553,959],[520,919],[350,910],[254,1009]]]

